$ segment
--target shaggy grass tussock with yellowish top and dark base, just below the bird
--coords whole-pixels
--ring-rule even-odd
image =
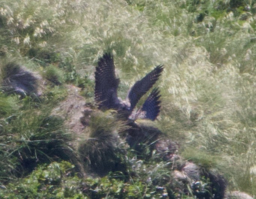
[[[97,111],[90,115],[90,134],[87,140],[81,141],[79,154],[85,165],[100,175],[109,171],[126,172],[124,164],[125,147],[122,146],[118,133],[127,127],[118,121],[111,112]]]

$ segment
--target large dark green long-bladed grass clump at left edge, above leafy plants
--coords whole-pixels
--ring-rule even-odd
[[[67,144],[72,138],[65,132],[63,120],[48,114],[27,110],[1,119],[1,180],[22,176],[40,162],[75,161]]]

